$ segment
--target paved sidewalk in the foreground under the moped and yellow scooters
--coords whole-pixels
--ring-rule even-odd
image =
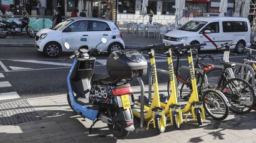
[[[161,92],[165,90],[164,87],[165,84],[160,84]],[[139,87],[133,87],[133,90],[138,93]],[[1,107],[9,108],[3,110]],[[117,140],[101,121],[89,134],[92,121],[83,120],[72,112],[66,95],[45,96],[0,104],[0,142],[256,142],[255,113],[230,113],[224,121],[214,121],[208,117],[200,127],[190,118],[188,123],[182,124],[181,129],[168,125],[162,134],[152,127],[148,131],[140,130],[139,122],[135,120],[137,130],[127,139]],[[14,119],[19,123],[12,124],[16,121]]]

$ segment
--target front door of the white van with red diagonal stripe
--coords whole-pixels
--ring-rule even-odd
[[[208,33],[207,31],[210,32]],[[207,44],[204,46],[204,49],[215,49],[221,44],[220,23],[209,23],[202,31],[200,31],[200,35],[203,43]]]

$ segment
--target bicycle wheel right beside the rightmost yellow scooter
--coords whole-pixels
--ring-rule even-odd
[[[229,112],[228,101],[220,91],[207,89],[203,92],[201,101],[207,114],[214,120],[227,118]]]

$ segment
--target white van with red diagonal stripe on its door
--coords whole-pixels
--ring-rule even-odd
[[[206,43],[207,45],[200,50],[214,50],[224,43],[237,43],[231,49],[241,53],[244,51],[242,46],[250,46],[250,35],[251,28],[248,18],[198,17],[190,20],[177,30],[166,33],[163,43]]]

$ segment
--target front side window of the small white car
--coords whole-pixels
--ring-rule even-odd
[[[65,29],[65,31],[69,31],[69,32],[82,32],[87,30],[88,30],[87,20],[80,20],[78,22],[75,22]]]

